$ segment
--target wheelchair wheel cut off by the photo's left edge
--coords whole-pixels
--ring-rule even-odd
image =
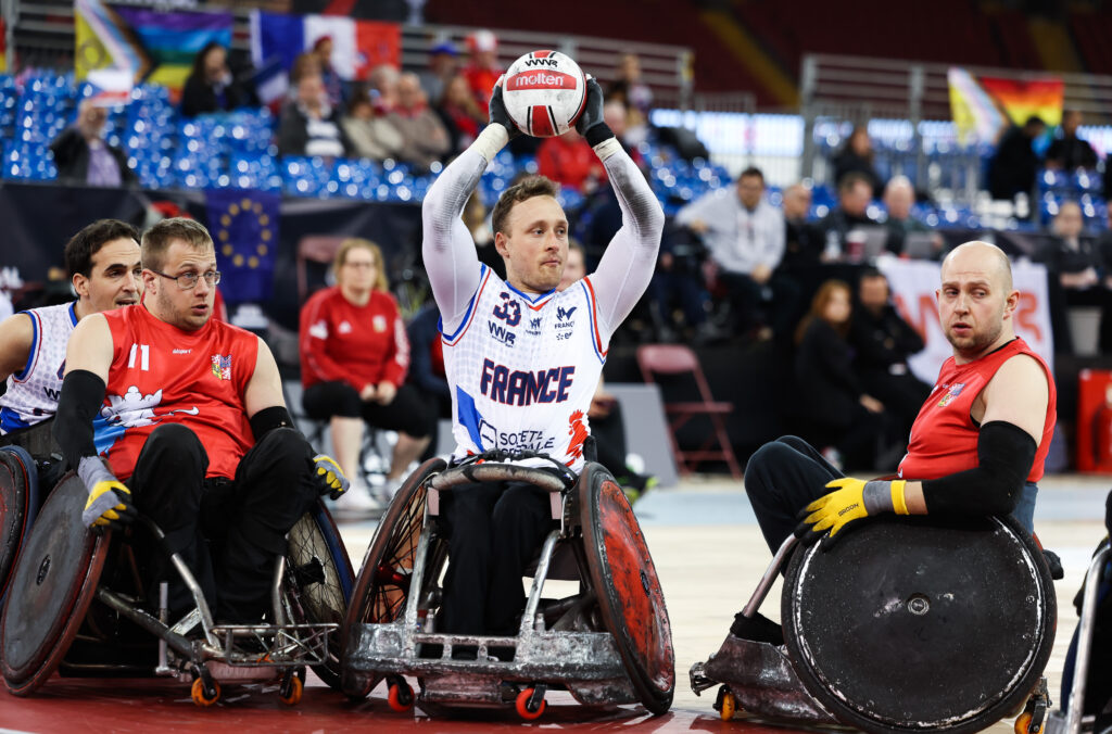
[[[0,605],[39,509],[34,459],[20,446],[0,448]]]

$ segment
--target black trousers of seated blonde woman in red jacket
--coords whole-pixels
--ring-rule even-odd
[[[413,385],[403,385],[389,405],[379,405],[359,398],[359,393],[347,383],[317,383],[305,390],[301,406],[314,420],[328,420],[332,416],[363,418],[368,425],[423,438],[436,430],[436,416]]]

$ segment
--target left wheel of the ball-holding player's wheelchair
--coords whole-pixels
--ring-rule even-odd
[[[353,625],[387,624],[405,614],[418,540],[425,528],[425,480],[445,466],[440,458],[421,464],[398,489],[379,520],[351,593],[342,629],[344,645],[350,639]],[[342,690],[349,696],[363,697],[378,681],[378,676],[345,668]]]

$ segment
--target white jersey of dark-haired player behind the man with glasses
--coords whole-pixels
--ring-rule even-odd
[[[33,426],[58,410],[66,345],[77,326],[77,301],[20,311],[31,318],[33,338],[23,369],[8,378],[0,396],[0,434]]]

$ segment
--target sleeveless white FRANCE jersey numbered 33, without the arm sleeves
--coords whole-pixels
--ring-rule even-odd
[[[578,469],[610,336],[590,279],[536,296],[478,267],[463,324],[441,336],[456,457],[528,449]]]

